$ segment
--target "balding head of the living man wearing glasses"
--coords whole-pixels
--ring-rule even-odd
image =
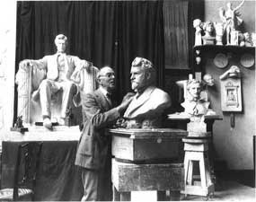
[[[111,92],[115,89],[115,72],[110,66],[103,66],[97,74],[97,81],[106,89]]]

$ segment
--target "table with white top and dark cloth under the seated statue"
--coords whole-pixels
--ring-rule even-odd
[[[84,189],[80,171],[75,166],[76,146],[80,136],[79,129],[59,127],[55,128],[55,132],[46,130],[44,133],[42,131],[45,131],[45,128],[39,128],[38,133],[31,128],[31,134],[21,135],[12,132],[5,135],[2,143],[1,188],[12,186],[14,156],[16,156],[18,145],[42,141],[35,200],[80,201]]]

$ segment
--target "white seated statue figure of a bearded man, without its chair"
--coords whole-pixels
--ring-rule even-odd
[[[63,34],[57,35],[55,39],[57,53],[54,55],[45,56],[39,60],[25,59],[20,63],[20,66],[29,69],[32,66],[35,69],[44,70],[45,78],[39,85],[39,89],[32,94],[32,98],[37,100],[40,96],[41,115],[43,126],[52,127],[51,123],[51,96],[59,91],[62,91],[62,102],[59,125],[65,125],[67,109],[74,95],[78,92],[74,74],[77,71],[85,68],[87,71],[93,65],[92,63],[82,60],[79,57],[66,55],[67,38]]]

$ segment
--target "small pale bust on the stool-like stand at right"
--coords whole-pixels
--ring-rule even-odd
[[[181,106],[185,109],[184,114],[189,116],[203,116],[211,114],[212,110],[209,110],[209,101],[201,99],[200,93],[203,90],[202,83],[192,79],[187,84],[187,98]]]

